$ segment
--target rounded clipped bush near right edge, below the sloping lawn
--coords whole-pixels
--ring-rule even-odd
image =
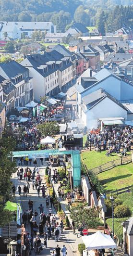
[[[116,218],[123,218],[131,216],[131,211],[127,205],[118,205],[114,209],[114,216]]]

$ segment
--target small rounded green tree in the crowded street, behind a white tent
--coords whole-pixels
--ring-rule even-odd
[[[53,136],[60,132],[60,127],[57,122],[45,122],[41,125],[37,125],[39,132],[42,136]]]

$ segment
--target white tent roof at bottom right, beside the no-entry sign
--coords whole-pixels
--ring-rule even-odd
[[[93,235],[83,236],[82,240],[87,250],[117,247],[110,235],[106,235],[100,231],[97,231]]]

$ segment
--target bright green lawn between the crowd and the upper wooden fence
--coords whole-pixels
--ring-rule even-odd
[[[85,138],[83,138],[83,141],[84,140]],[[115,153],[112,154],[112,156],[107,156],[106,151],[102,151],[101,153],[99,153],[99,152],[96,152],[95,150],[92,150],[92,151],[84,151],[81,154],[81,157],[84,160],[84,163],[87,166],[87,168],[92,169],[94,167],[103,165],[112,160],[118,159],[119,156]]]

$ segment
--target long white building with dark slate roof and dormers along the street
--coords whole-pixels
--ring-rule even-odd
[[[73,63],[58,51],[45,54],[29,54],[21,63],[33,77],[34,100],[40,101],[44,95],[55,96],[70,87],[73,79]]]

